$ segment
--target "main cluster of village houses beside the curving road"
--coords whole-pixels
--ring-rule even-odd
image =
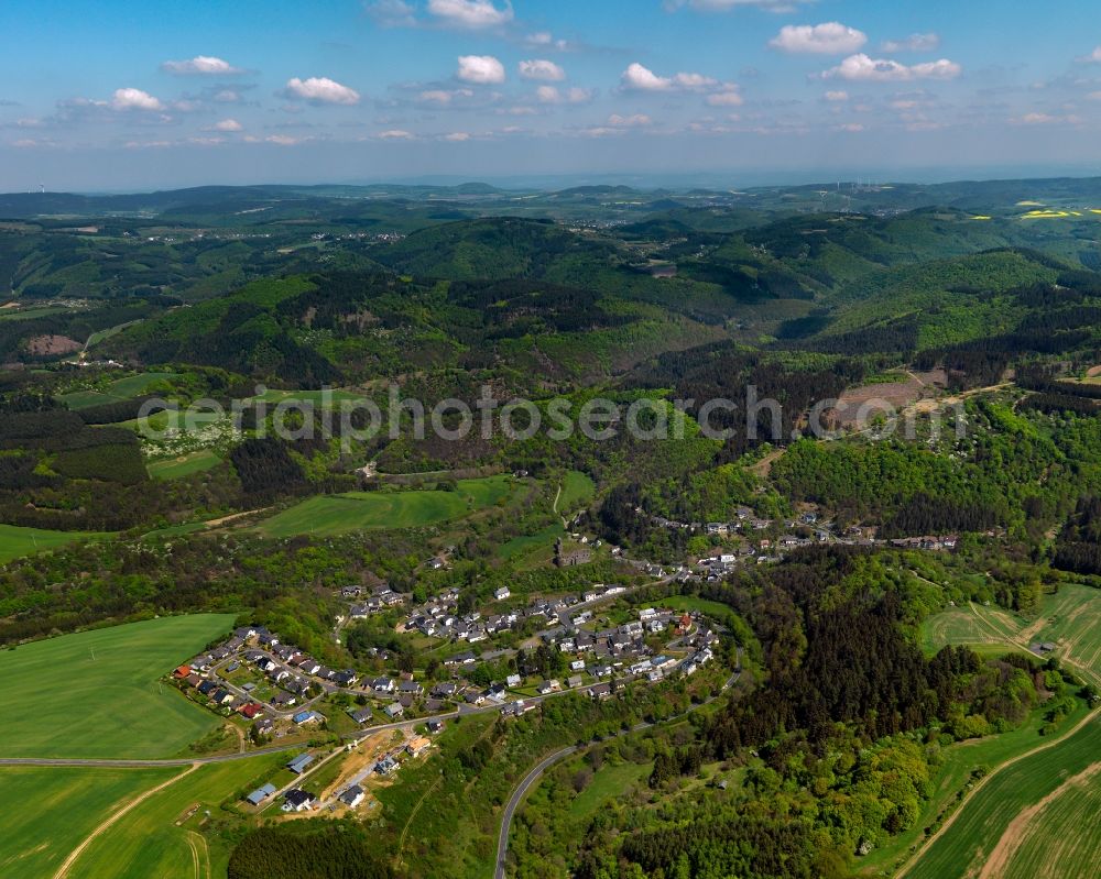
[[[644,607],[634,611],[636,618],[598,627],[601,617],[595,609],[626,591],[595,585],[579,595],[534,601],[523,612],[550,624],[534,642],[556,658],[560,673],[537,674],[525,666],[527,653],[506,650],[489,659],[514,657],[517,671],[488,686],[471,681],[473,669],[487,661],[472,651],[440,663],[447,680],[417,680],[411,672],[372,677],[328,668],[263,626],[242,626],[177,667],[170,680],[189,699],[246,727],[254,745],[302,746],[277,777],[244,798],[242,807],[262,812],[281,802],[282,812],[288,815],[357,809],[368,799],[371,783],[389,779],[407,760],[424,756],[432,737],[451,718],[486,712],[519,717],[544,700],[568,693],[607,700],[632,682],[650,685],[688,677],[711,662],[720,629],[696,612]],[[394,595],[380,586],[367,603],[392,607],[401,603]],[[506,597],[499,592],[497,601]],[[450,622],[447,608],[456,600],[448,591],[429,603],[430,609],[427,605],[416,608],[411,617]],[[468,622],[476,625],[493,618],[481,623],[480,615],[472,616],[476,619]],[[414,628],[423,630],[424,624]],[[457,626],[451,623],[444,628]],[[457,639],[458,634],[446,637]],[[303,785],[305,778],[340,755],[346,759],[336,781],[321,790]]]

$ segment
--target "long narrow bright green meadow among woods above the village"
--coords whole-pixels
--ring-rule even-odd
[[[348,492],[320,495],[260,523],[269,537],[335,535],[372,528],[413,528],[460,518],[506,501],[515,491],[511,476],[461,480],[458,490]]]

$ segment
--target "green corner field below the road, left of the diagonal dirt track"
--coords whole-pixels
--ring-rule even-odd
[[[126,802],[179,769],[0,767],[0,876],[42,879]]]

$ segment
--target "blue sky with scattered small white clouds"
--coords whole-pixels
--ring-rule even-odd
[[[1098,173],[1095,0],[0,4],[0,189]]]

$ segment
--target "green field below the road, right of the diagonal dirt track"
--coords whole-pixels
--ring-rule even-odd
[[[215,879],[226,875],[229,849],[218,834],[204,834],[209,810],[270,780],[286,758],[253,757],[209,763],[157,791],[98,836],[73,864],[67,879]],[[182,821],[197,806],[195,814]]]

